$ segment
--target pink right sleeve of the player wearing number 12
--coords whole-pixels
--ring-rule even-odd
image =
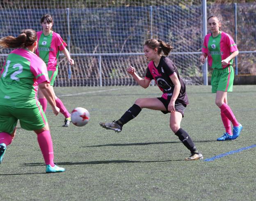
[[[39,57],[35,59],[33,58],[30,63],[30,70],[34,74],[34,77],[36,78],[38,84],[43,82],[50,83],[46,64]]]

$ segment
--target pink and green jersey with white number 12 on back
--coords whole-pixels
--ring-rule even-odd
[[[38,84],[43,82],[49,78],[42,59],[27,49],[11,51],[0,73],[0,105],[33,107]]]

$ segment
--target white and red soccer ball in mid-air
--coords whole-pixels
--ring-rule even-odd
[[[71,112],[71,122],[76,126],[85,126],[90,120],[90,113],[85,108],[75,108]]]

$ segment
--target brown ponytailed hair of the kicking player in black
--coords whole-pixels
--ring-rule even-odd
[[[145,41],[144,45],[148,46],[150,49],[158,49],[158,54],[161,54],[162,52],[164,55],[168,55],[174,47],[171,45],[171,41],[168,43],[165,43],[165,41],[162,41],[160,39],[148,39]]]

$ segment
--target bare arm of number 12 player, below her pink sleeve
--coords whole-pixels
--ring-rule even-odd
[[[55,96],[52,92],[52,88],[50,87],[50,84],[48,82],[43,82],[39,84],[39,88],[43,95],[46,97],[48,103],[52,106],[53,108],[53,113],[55,115],[59,114],[59,108],[56,106],[55,102]]]

